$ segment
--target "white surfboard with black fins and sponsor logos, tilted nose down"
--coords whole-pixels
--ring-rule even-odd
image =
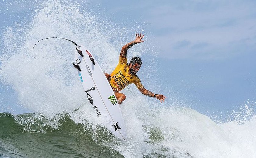
[[[76,50],[73,65],[77,69],[88,101],[98,116],[104,117],[107,122],[106,128],[118,138],[125,140],[123,115],[105,74],[85,46],[78,45]]]

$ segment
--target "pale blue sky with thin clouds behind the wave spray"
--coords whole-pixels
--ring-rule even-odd
[[[89,5],[96,16],[125,27],[143,24],[145,42],[150,40],[158,50],[158,73],[151,78],[160,78],[156,81],[160,89],[153,90],[165,94],[169,101],[178,99],[208,115],[225,114],[241,105],[255,106],[252,102],[256,101],[256,1],[77,2],[81,7]],[[30,21],[36,3],[1,1],[0,35],[15,22]],[[140,71],[147,71],[151,59],[146,52],[142,58],[146,64]],[[151,87],[147,80],[142,77],[145,87]],[[6,94],[15,96],[13,93],[0,88],[5,100]]]

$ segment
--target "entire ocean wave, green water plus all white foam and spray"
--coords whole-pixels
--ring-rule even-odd
[[[58,0],[38,4],[31,22],[5,29],[0,81],[32,113],[0,113],[0,157],[256,157],[256,116],[247,105],[225,123],[216,123],[179,103],[159,106],[130,86],[123,91],[127,98],[120,106],[127,129],[124,142],[104,127],[88,103],[71,63],[72,43],[44,40],[32,52],[43,38],[68,38],[86,45],[110,72],[134,30],[77,3]],[[128,59],[149,47],[138,45]],[[149,56],[155,57],[155,52]]]

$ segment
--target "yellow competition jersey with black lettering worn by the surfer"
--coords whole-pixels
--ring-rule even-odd
[[[127,58],[119,57],[119,63],[115,70],[111,73],[110,85],[118,91],[121,91],[127,85],[134,83],[137,88],[142,88],[143,85],[140,82],[137,75],[132,75],[129,72],[129,67],[127,63]]]

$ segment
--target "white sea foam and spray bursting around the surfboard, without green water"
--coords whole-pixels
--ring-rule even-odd
[[[73,44],[51,39],[38,43],[34,53],[32,48],[43,38],[68,38],[86,45],[102,69],[110,72],[118,62],[121,46],[134,37],[126,35],[124,26],[106,21],[108,19],[102,20],[93,12],[81,11],[78,4],[46,1],[27,27],[17,25],[5,30],[1,81],[13,88],[20,104],[33,112],[50,117],[68,112],[77,123],[88,121],[95,127],[103,124],[104,120],[98,119],[85,99],[71,64]],[[136,50],[129,50],[128,58],[140,56],[138,51],[148,47],[138,45]],[[127,141],[109,146],[125,157],[256,157],[254,115],[240,124],[232,120],[216,124],[193,109],[152,102],[134,86],[123,92],[127,96],[121,105]],[[73,111],[79,107],[82,108]]]

